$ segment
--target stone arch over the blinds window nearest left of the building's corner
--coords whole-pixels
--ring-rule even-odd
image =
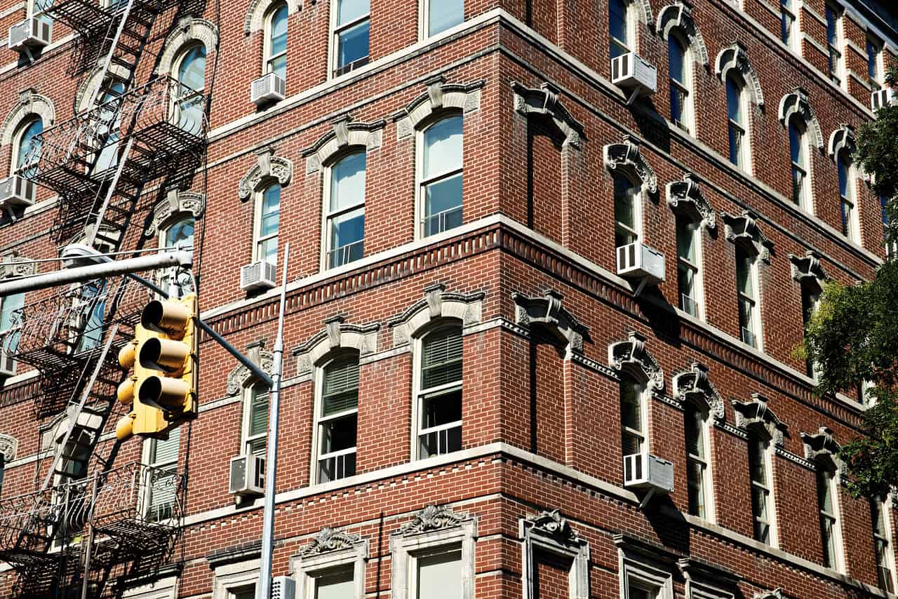
[[[424,288],[424,299],[409,306],[409,309],[388,322],[392,328],[393,347],[409,346],[418,332],[430,322],[454,318],[462,322],[462,327],[480,324],[483,309],[482,291],[472,294],[449,293],[445,285],[435,283]]]

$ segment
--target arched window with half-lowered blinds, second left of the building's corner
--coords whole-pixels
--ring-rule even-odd
[[[339,357],[321,368],[318,392],[318,482],[356,473],[358,356]]]

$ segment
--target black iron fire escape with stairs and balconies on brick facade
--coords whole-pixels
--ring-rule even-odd
[[[89,110],[34,139],[20,174],[57,193],[60,245],[141,249],[155,200],[186,188],[206,152],[207,99],[149,75],[151,48],[184,5],[39,0],[40,8],[77,33],[73,72],[99,66],[101,84]],[[119,445],[102,442],[110,418],[124,413],[116,401],[126,376],[119,348],[149,294],[127,277],[35,292],[2,339],[40,373],[35,415],[56,417],[44,432],[41,449],[51,455],[39,462],[38,490],[0,500],[0,560],[17,571],[17,596],[114,595],[171,557],[182,522],[180,474],[116,465]]]

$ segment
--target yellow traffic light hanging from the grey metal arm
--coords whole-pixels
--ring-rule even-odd
[[[136,339],[119,351],[119,364],[134,374],[119,385],[119,401],[131,405],[119,420],[119,440],[132,435],[166,438],[197,417],[199,335],[197,296],[146,304]]]

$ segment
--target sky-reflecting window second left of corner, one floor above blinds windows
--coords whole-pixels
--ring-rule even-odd
[[[349,154],[330,167],[330,194],[325,210],[325,268],[358,260],[365,240],[365,152]]]

